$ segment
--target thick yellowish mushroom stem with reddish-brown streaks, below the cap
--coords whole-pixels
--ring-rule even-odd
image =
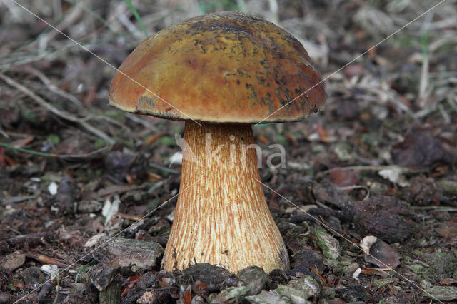
[[[288,268],[263,195],[251,125],[186,121],[181,186],[164,270],[210,263],[231,273]]]

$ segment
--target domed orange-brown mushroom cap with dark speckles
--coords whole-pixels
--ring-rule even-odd
[[[141,42],[114,75],[109,99],[124,111],[160,118],[275,123],[323,108],[320,81],[287,31],[248,14],[220,12]]]

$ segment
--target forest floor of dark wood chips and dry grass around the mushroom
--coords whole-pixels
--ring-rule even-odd
[[[260,168],[291,260],[269,275],[160,271],[184,123],[108,105],[146,37],[128,2],[0,1],[0,303],[457,301],[457,1],[132,1],[149,35],[274,21],[325,78],[323,111],[253,127],[263,164],[286,151]]]

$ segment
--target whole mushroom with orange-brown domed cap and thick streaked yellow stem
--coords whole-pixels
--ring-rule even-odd
[[[300,42],[248,14],[187,19],[126,58],[111,82],[111,105],[185,121],[164,270],[194,263],[231,273],[250,265],[267,273],[289,267],[250,146],[252,125],[298,121],[324,101],[321,79]]]

